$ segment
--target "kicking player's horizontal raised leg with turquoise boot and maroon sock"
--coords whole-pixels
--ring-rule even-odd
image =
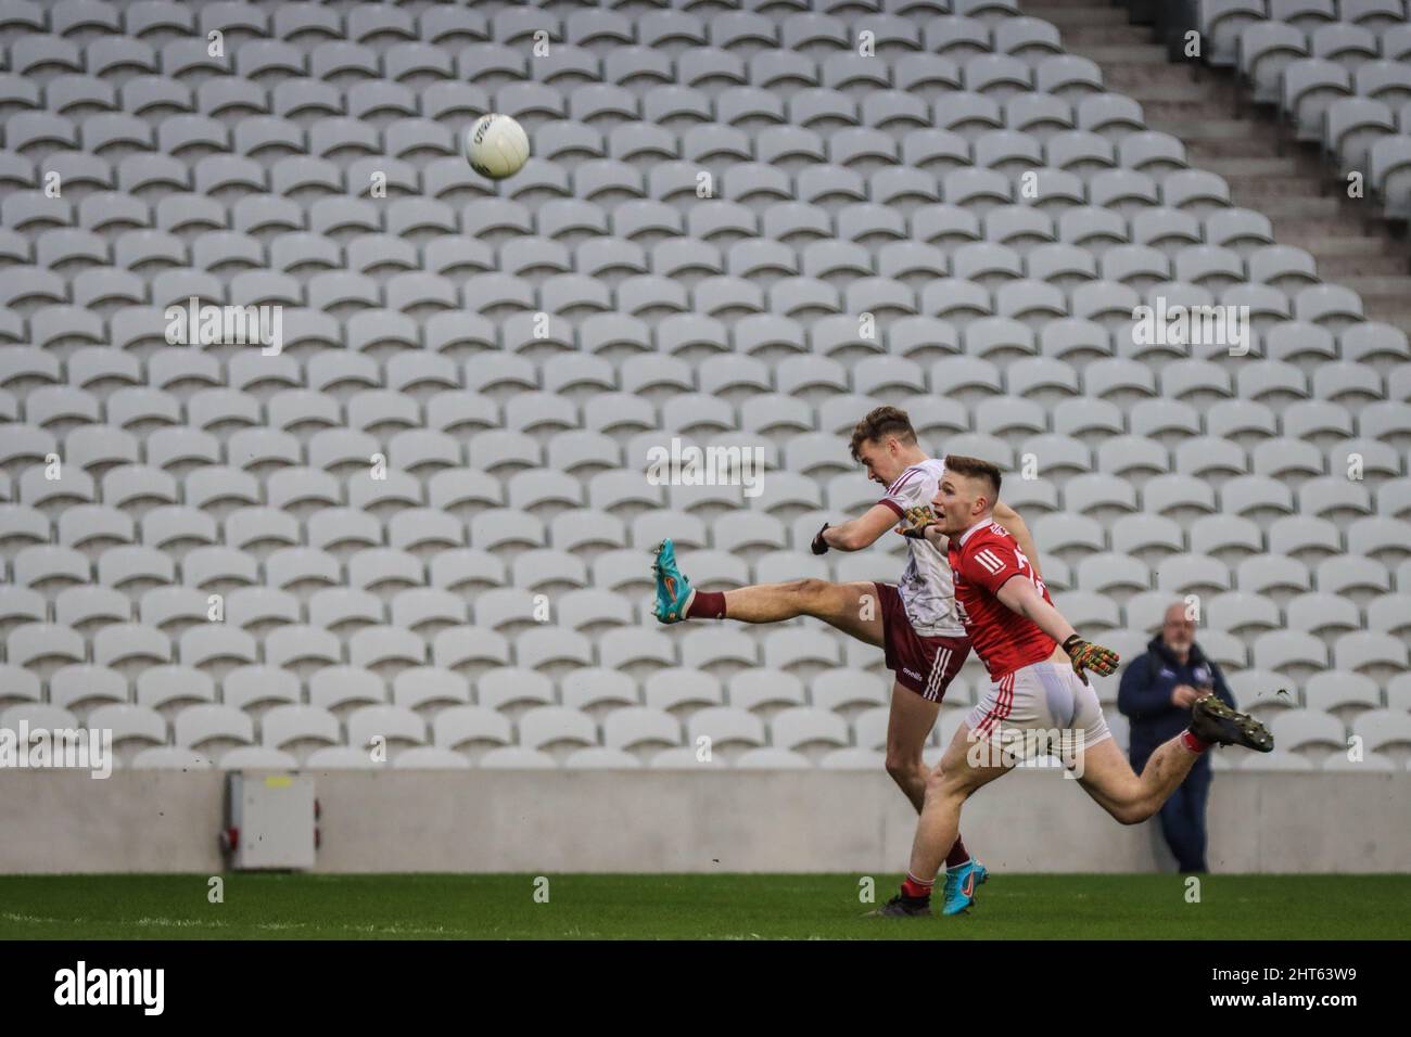
[[[670,539],[656,546],[652,573],[656,577],[652,614],[663,624],[683,619],[769,624],[807,615],[868,645],[882,645],[882,615],[873,583],[794,580],[729,591],[698,591],[676,564],[676,547]]]

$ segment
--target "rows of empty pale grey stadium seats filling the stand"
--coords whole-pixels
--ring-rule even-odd
[[[1411,213],[1400,0],[1201,8]],[[1405,330],[1041,16],[0,0],[0,725],[137,768],[879,768],[880,652],[659,628],[646,552],[895,578],[900,538],[807,545],[897,404],[1013,471],[1084,631],[1140,653],[1202,595],[1280,739],[1242,768],[1405,768]],[[460,152],[488,110],[533,144],[498,186]],[[282,351],[172,344],[189,296],[282,306]],[[1249,356],[1139,341],[1160,301],[1249,305]],[[762,492],[648,480],[673,437],[758,449]]]

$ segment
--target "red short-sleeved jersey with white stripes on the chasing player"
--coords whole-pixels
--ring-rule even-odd
[[[967,529],[959,540],[952,538],[948,554],[955,574],[955,611],[991,680],[1046,662],[1057,642],[995,597],[1017,576],[1031,581],[1044,601],[1053,604],[1048,588],[1015,538],[998,522],[981,522]]]

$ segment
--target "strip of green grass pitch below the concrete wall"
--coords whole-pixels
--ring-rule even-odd
[[[967,916],[865,918],[858,875],[0,876],[3,940],[1400,940],[1408,875],[995,875]],[[876,876],[878,902],[896,876]]]

